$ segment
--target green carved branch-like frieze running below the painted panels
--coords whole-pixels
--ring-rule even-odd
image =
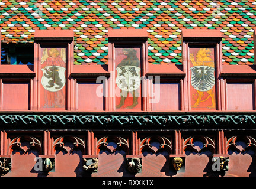
[[[9,126],[255,126],[255,115],[0,115]]]

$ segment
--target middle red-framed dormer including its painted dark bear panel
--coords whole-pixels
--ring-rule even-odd
[[[146,86],[143,68],[146,67],[147,32],[136,30],[109,30],[110,71],[113,82],[111,108],[116,111],[141,111],[145,108],[143,86]],[[145,106],[143,106],[145,105]]]

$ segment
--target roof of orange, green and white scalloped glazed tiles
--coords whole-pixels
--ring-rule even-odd
[[[2,43],[37,29],[73,29],[75,64],[108,64],[109,28],[146,28],[152,64],[181,64],[183,28],[220,29],[223,64],[253,64],[255,0],[2,0]]]

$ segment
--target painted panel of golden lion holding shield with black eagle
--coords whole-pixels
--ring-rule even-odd
[[[190,48],[191,110],[216,110],[215,48]]]

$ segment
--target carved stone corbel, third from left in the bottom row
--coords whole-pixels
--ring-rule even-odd
[[[85,172],[97,172],[98,171],[98,155],[83,155],[82,169]]]

